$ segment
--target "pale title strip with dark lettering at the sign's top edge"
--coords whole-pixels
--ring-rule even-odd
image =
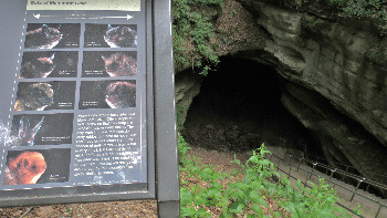
[[[27,10],[140,11],[140,0],[28,0]]]

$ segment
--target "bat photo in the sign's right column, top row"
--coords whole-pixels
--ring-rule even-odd
[[[137,48],[137,25],[86,23],[85,46]]]

